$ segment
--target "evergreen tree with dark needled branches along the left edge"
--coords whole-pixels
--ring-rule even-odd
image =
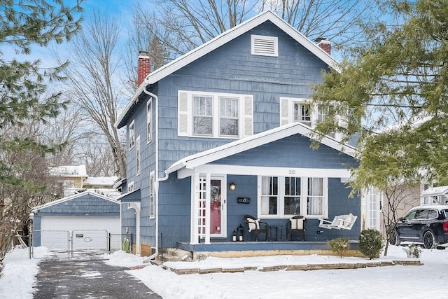
[[[60,92],[45,94],[46,84],[63,79],[60,74],[66,63],[43,69],[40,60],[20,61],[11,55],[4,57],[3,51],[9,48],[17,55],[28,55],[33,46],[68,41],[80,28],[81,18],[75,17],[82,11],[82,1],[66,6],[62,0],[0,0],[0,260],[6,248],[3,245],[10,244],[6,232],[25,223],[29,199],[45,189],[44,182],[33,179],[38,174],[29,177],[30,171],[47,172],[31,167],[35,159],[12,156],[29,153],[42,156],[57,149],[32,137],[20,136],[19,130],[11,127],[25,127],[31,120],[45,122],[66,106]],[[25,202],[17,202],[19,198]]]

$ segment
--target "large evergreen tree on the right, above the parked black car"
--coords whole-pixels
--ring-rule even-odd
[[[448,183],[448,1],[391,0],[394,26],[379,22],[370,39],[324,74],[314,102],[331,106],[320,132],[358,134],[360,190],[412,183]],[[316,134],[316,139],[322,135]]]

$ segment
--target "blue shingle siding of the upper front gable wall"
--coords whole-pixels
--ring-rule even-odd
[[[251,55],[251,35],[277,36],[279,57]],[[173,162],[235,139],[179,137],[178,90],[253,95],[253,133],[279,126],[279,97],[307,98],[328,67],[272,23],[239,36],[158,83],[160,176]]]

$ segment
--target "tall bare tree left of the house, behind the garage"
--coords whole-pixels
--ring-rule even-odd
[[[118,76],[120,28],[118,21],[94,12],[73,43],[69,77],[71,97],[87,112],[111,148],[116,175],[126,176],[123,144],[115,127],[120,101],[126,99]]]

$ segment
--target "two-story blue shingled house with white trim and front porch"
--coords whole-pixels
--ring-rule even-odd
[[[122,231],[136,235],[137,253],[321,248],[286,242],[296,214],[307,217],[307,241],[357,240],[360,221],[351,230],[318,227],[319,218],[360,216],[346,185],[356,149],[334,136],[314,150],[309,139],[325,117],[309,104],[312,87],[337,67],[268,11],[147,77],[139,72],[144,81],[117,122],[127,128]],[[281,230],[279,241],[232,243],[246,214]]]

